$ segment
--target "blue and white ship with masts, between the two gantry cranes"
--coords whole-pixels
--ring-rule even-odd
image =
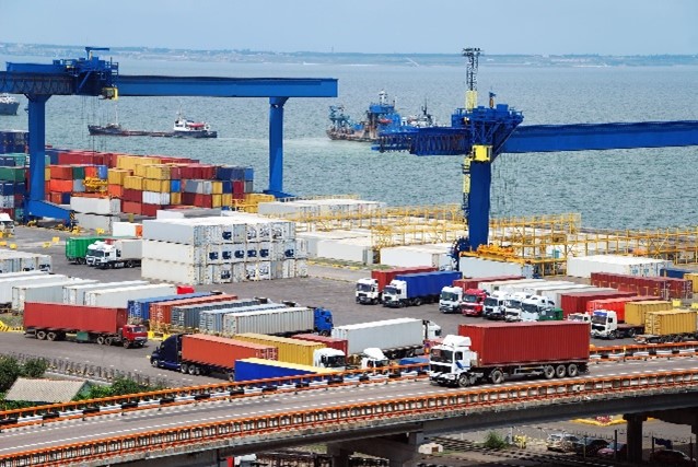
[[[377,103],[369,105],[365,120],[354,122],[344,112],[345,107],[341,105],[329,106],[329,120],[331,121],[327,129],[329,139],[375,142],[380,133],[437,126],[435,119],[427,110],[427,104],[421,107],[420,115],[402,117],[395,109],[395,101],[388,103],[385,91],[379,93]]]

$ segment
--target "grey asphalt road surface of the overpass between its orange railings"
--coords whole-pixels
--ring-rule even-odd
[[[590,374],[582,378],[601,376],[647,374],[662,370],[686,370],[695,367],[691,359],[653,360],[647,362],[620,362],[593,365]],[[516,382],[505,383],[513,386]],[[42,447],[57,446],[125,434],[163,430],[181,425],[207,423],[234,418],[287,413],[335,405],[365,404],[420,397],[453,392],[429,384],[424,380],[402,381],[389,384],[359,385],[311,389],[289,394],[267,394],[265,397],[245,397],[230,401],[207,401],[198,405],[161,407],[121,415],[106,415],[85,420],[31,425],[4,430],[0,436],[0,454],[11,454]]]

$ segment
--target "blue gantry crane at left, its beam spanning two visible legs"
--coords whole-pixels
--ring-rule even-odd
[[[269,98],[269,186],[266,192],[283,192],[283,105],[290,97],[336,97],[334,78],[211,78],[123,75],[118,63],[100,59],[85,47],[86,57],[57,59],[53,63],[12,63],[0,72],[0,92],[28,98],[30,186],[25,203],[27,218],[70,221],[69,210],[46,201],[45,147],[46,101],[53,95],[209,96]]]

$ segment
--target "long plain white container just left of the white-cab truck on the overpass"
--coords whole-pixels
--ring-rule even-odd
[[[361,353],[371,347],[387,350],[419,346],[423,342],[423,324],[421,319],[415,318],[336,326],[331,331],[331,337],[347,339],[349,354]]]

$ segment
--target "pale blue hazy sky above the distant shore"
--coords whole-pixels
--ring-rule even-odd
[[[698,54],[698,0],[2,0],[0,42],[270,51]]]

